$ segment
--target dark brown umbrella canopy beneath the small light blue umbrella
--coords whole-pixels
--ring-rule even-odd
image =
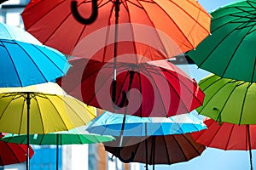
[[[124,143],[134,138],[126,137]],[[115,142],[115,141],[114,141]],[[112,143],[114,143],[112,142]],[[150,136],[137,144],[122,147],[119,152],[118,147],[109,146],[105,143],[105,150],[117,156],[124,162],[142,162],[148,164],[173,164],[181,161],[189,161],[196,156],[200,156],[205,146],[195,143],[190,133],[172,134],[166,136]],[[129,160],[134,153],[133,160]],[[146,153],[146,154],[145,154]],[[129,160],[129,161],[127,161]]]

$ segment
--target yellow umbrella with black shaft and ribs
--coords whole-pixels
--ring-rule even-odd
[[[53,82],[25,88],[0,88],[0,132],[26,133],[28,137],[30,133],[67,131],[95,117],[94,107],[67,95]],[[29,169],[29,159],[26,169]]]

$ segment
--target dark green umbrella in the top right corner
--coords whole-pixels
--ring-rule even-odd
[[[189,58],[220,77],[256,82],[256,1],[230,3],[211,13],[211,36]]]

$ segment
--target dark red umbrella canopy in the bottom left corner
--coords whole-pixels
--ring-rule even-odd
[[[0,134],[0,139],[3,134]],[[34,151],[29,147],[29,157],[34,155]],[[26,161],[26,144],[11,144],[0,140],[0,166],[21,163]]]

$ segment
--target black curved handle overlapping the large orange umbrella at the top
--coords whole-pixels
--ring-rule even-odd
[[[91,0],[91,3],[92,3],[91,4],[92,5],[92,12],[90,14],[90,17],[88,19],[84,19],[84,17],[82,17],[79,14],[79,11],[78,11],[78,8],[77,8],[78,2],[77,1],[72,1],[71,2],[71,11],[72,11],[73,17],[82,24],[91,24],[96,20],[96,18],[98,16],[97,0]]]

